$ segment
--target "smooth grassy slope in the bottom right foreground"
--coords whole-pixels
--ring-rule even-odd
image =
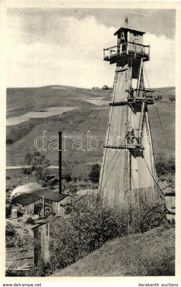
[[[162,227],[116,238],[52,276],[174,276],[174,240]]]

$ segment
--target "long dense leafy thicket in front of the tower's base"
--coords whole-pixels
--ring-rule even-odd
[[[158,204],[157,201],[155,205]],[[65,209],[69,212],[68,217],[55,220],[50,226],[50,261],[42,267],[40,276],[82,259],[110,239],[140,232],[141,221],[148,211],[144,205],[141,212],[138,212],[137,205],[127,209],[124,206],[111,208],[95,192],[72,197]],[[143,231],[165,222],[164,208],[156,211],[145,217]]]

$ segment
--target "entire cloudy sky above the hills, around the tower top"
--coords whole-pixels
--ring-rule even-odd
[[[7,87],[113,86],[115,64],[103,61],[121,26],[146,32],[149,88],[175,86],[174,9],[8,8]]]

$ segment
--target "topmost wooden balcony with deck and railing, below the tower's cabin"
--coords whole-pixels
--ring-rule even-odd
[[[104,61],[110,61],[111,64],[120,61],[120,57],[124,55],[132,55],[134,59],[149,61],[149,45],[127,42],[104,49]]]

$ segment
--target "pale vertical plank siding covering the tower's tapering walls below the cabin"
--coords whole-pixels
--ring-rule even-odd
[[[142,37],[142,36],[140,36]],[[142,38],[139,39],[142,42]],[[126,102],[132,87],[132,67],[117,63],[112,103]],[[126,144],[126,135],[132,129],[139,136],[141,104],[111,105],[107,125],[107,138],[115,146]],[[156,171],[147,108],[144,112],[143,151],[126,148],[105,148],[100,172],[99,192],[112,206],[137,204],[140,197],[146,201],[160,198],[156,188]],[[119,137],[119,138],[118,138]],[[109,141],[109,140],[108,140]],[[139,194],[139,196],[138,196]]]

